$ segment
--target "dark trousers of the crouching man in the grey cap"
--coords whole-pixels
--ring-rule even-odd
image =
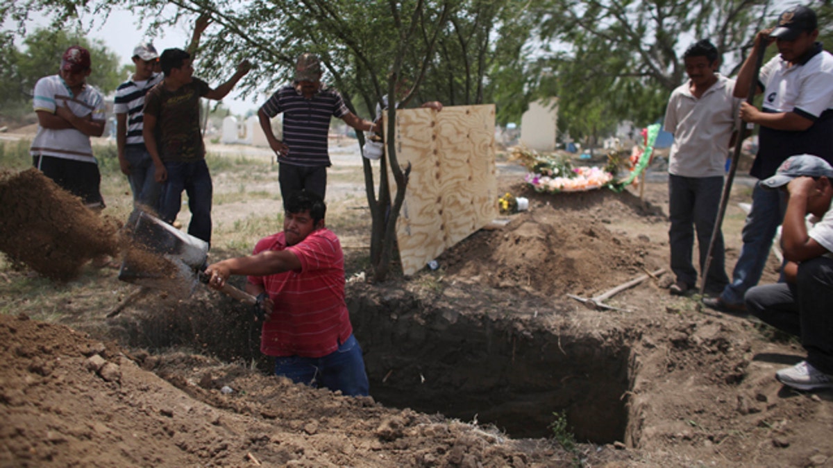
[[[746,309],[781,331],[801,338],[807,362],[833,375],[833,259],[802,261],[795,284],[756,286],[746,292]]]

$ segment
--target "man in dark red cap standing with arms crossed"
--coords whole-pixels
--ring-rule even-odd
[[[90,137],[104,132],[104,98],[87,84],[90,64],[90,52],[72,46],[63,52],[57,75],[37,80],[33,104],[38,127],[29,152],[44,175],[87,207],[101,209],[101,173]]]

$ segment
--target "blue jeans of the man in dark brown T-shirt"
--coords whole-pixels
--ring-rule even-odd
[[[188,234],[211,243],[211,204],[213,186],[204,159],[193,162],[166,162],[167,182],[162,188],[159,216],[174,222],[182,207],[182,191],[188,195],[191,223]]]

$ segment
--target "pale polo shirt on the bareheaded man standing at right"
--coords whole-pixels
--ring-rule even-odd
[[[716,76],[717,82],[699,99],[691,94],[691,80],[668,99],[664,127],[674,134],[668,172],[675,176],[716,177],[726,172],[741,100],[732,97],[735,80]]]

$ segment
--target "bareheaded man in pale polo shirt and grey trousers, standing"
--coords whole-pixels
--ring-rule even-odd
[[[717,48],[704,39],[683,55],[689,79],[674,92],[666,109],[666,132],[674,134],[668,162],[671,271],[676,283],[671,294],[694,288],[697,271],[691,264],[694,228],[700,246],[700,269],[715,227],[723,191],[726,154],[735,131],[740,100],[732,97],[735,82],[717,72]],[[706,291],[720,293],[729,282],[724,269],[723,235],[717,233],[714,258],[703,276]]]

